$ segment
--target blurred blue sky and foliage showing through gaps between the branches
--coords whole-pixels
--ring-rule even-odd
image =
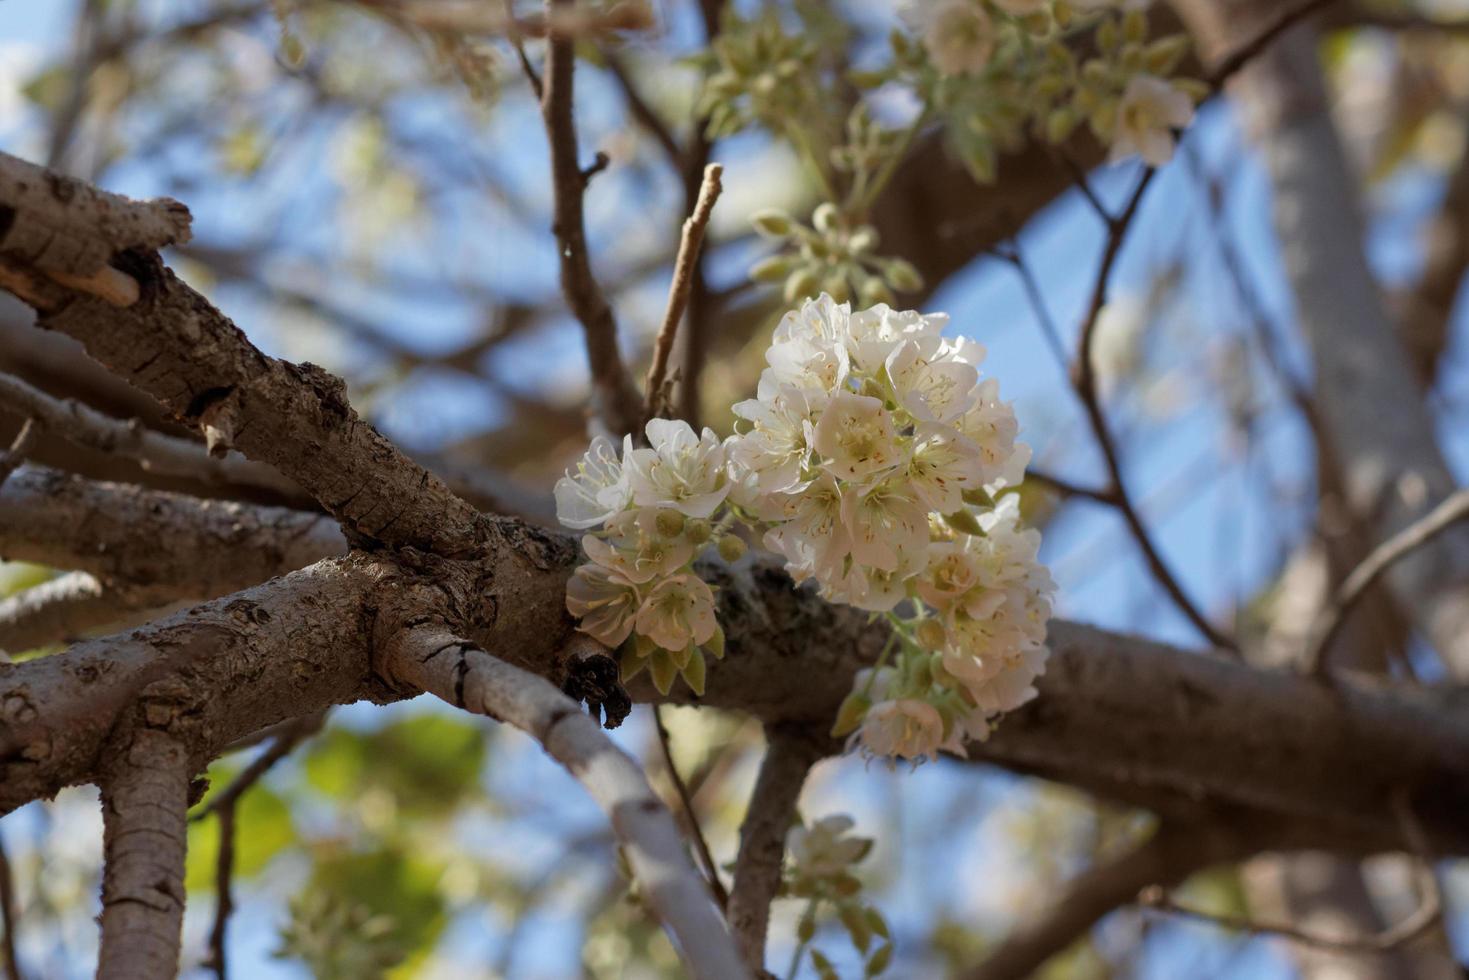
[[[812,38],[848,66],[877,59],[898,16],[878,0],[774,7],[787,24],[826,24]],[[342,375],[358,410],[411,451],[450,469],[494,469],[545,501],[585,445],[588,379],[555,281],[539,115],[504,40],[416,28],[391,10],[326,0],[12,0],[0,4],[0,145],[118,191],[187,201],[197,237],[170,260],[251,339]],[[1413,29],[1410,19],[1469,18],[1469,9],[1443,0],[1360,10],[1328,32],[1324,51],[1366,181],[1374,267],[1404,306],[1425,270],[1428,231],[1466,181],[1469,119],[1469,32]],[[665,120],[680,153],[695,145],[707,28],[698,4],[664,0],[654,15],[651,31],[585,41],[577,75],[583,156],[602,150],[611,160],[588,194],[593,260],[635,366],[646,359],[686,209],[680,172],[639,115]],[[1394,18],[1409,26],[1393,26]],[[878,106],[903,110],[881,93]],[[1316,517],[1309,433],[1291,391],[1302,361],[1246,137],[1224,104],[1206,106],[1196,129],[1144,206],[1097,364],[1134,495],[1162,547],[1209,610],[1262,632],[1287,555],[1309,541]],[[752,391],[782,306],[777,291],[745,275],[768,250],[749,216],[768,207],[806,216],[818,197],[790,148],[758,129],[721,140],[714,154],[726,165],[726,194],[705,262],[710,354],[698,407],[727,432],[727,407]],[[1131,175],[1103,169],[1093,184],[1116,201]],[[1003,166],[999,179],[1003,187]],[[927,231],[962,237],[965,220],[949,215]],[[1071,191],[1006,242],[1036,272],[1068,339],[1100,235]],[[1228,262],[1241,281],[1227,275]],[[949,310],[953,331],[990,348],[986,370],[1017,400],[1037,463],[1097,485],[1099,458],[1012,263],[975,251],[950,266],[930,273],[915,300]],[[1460,479],[1469,467],[1462,320],[1447,320],[1451,339],[1429,375]],[[35,378],[43,361],[28,360],[22,313],[0,309],[0,367]],[[48,386],[166,426],[75,363]],[[101,466],[84,460],[81,469],[129,476]],[[1046,527],[1061,614],[1193,642],[1109,511],[1034,485],[1025,494]],[[50,574],[6,564],[0,595]],[[758,726],[711,711],[665,714],[714,854],[732,861]],[[617,738],[671,796],[643,710]],[[212,792],[256,751],[216,763]],[[864,896],[892,923],[898,977],[972,962],[1062,882],[1147,829],[1144,817],[1075,790],[962,763],[892,773],[830,761],[802,811],[808,820],[851,813],[858,832],[877,839],[862,865]],[[580,789],[521,736],[447,708],[333,713],[244,796],[238,827],[237,976],[679,974]],[[0,824],[0,840],[18,886],[22,962],[34,976],[90,974],[95,793],[32,804]],[[192,974],[206,955],[217,848],[216,820],[191,824]],[[1462,868],[1448,887],[1456,907],[1469,908]],[[1183,898],[1246,911],[1234,873],[1199,876]],[[773,962],[789,954],[798,912],[799,902],[777,905]],[[1459,918],[1450,930],[1469,939]],[[840,936],[840,924],[824,924],[817,945],[842,976],[858,976]],[[1291,970],[1288,951],[1271,940],[1127,909],[1046,977]]]

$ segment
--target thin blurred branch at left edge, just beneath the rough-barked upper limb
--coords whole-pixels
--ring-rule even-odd
[[[213,444],[222,450],[209,451],[198,442],[154,432],[137,419],[123,422],[103,414],[72,398],[53,398],[40,388],[19,378],[0,375],[0,406],[18,414],[35,419],[47,432],[53,432],[73,445],[98,453],[112,453],[137,460],[142,469],[160,476],[187,476],[209,483],[234,486],[257,486],[276,494],[298,497],[301,488],[286,479],[273,466],[253,463],[239,455],[225,457],[234,442],[235,411],[238,397],[231,395],[204,410],[201,423],[206,438],[210,428],[216,435]],[[225,433],[228,428],[228,435]],[[219,458],[225,457],[225,458]]]

